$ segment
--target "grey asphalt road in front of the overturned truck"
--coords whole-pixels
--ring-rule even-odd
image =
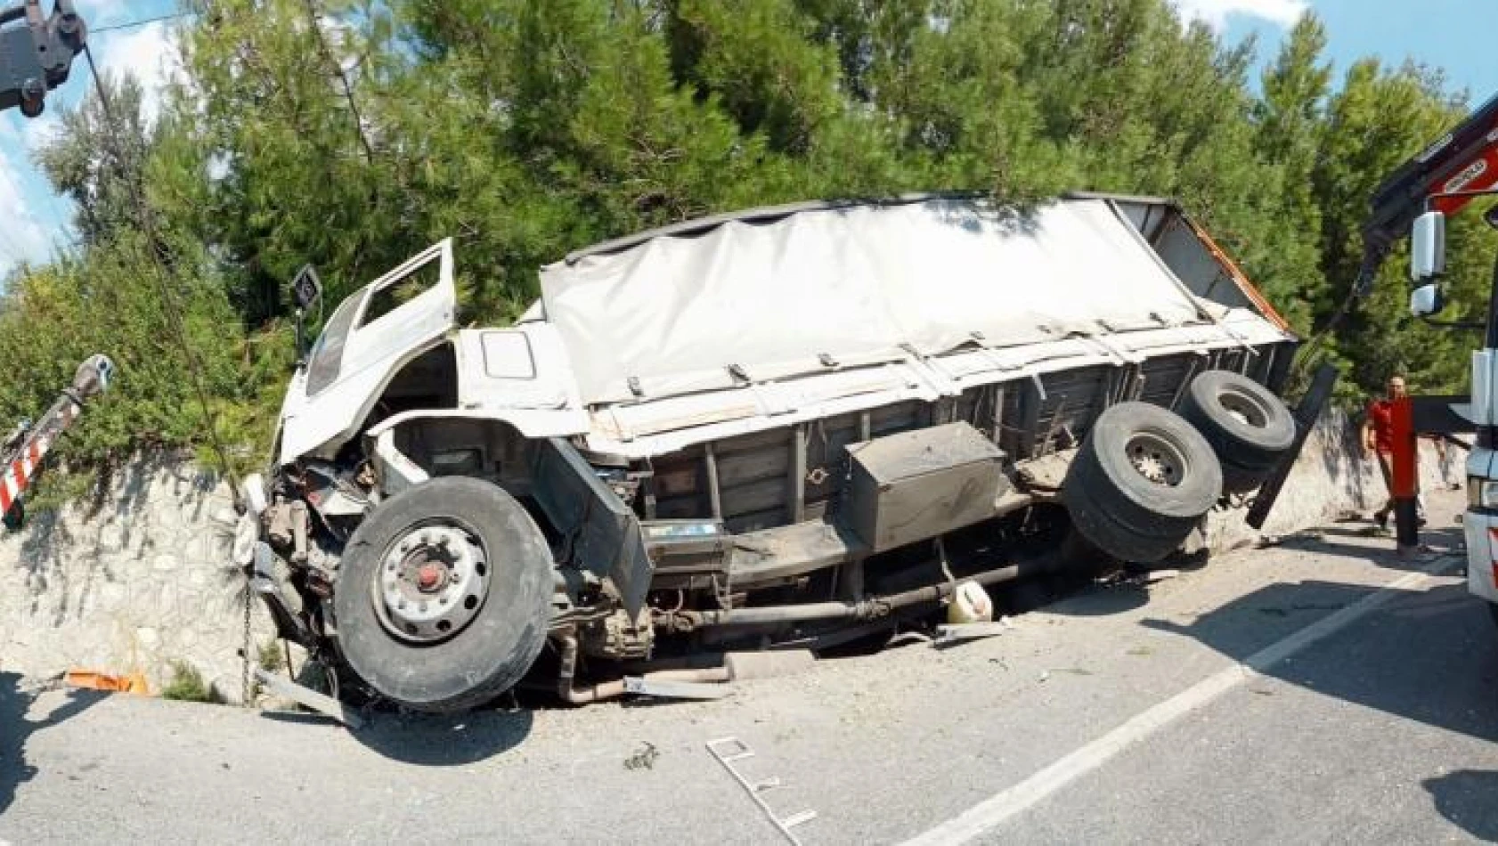
[[[762,794],[777,815],[816,812],[804,843],[1498,840],[1498,629],[1459,559],[1402,562],[1360,530],[1095,585],[992,639],[821,662],[718,702],[348,732],[31,696],[0,669],[0,840],[783,842],[709,755],[721,737],[752,749],[748,779],[779,779]]]

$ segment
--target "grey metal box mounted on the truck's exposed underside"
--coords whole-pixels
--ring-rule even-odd
[[[1008,485],[1004,452],[953,422],[848,445],[843,521],[882,553],[993,517]]]

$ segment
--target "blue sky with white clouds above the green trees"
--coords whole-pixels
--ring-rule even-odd
[[[9,4],[10,0],[0,0]],[[1327,27],[1327,57],[1341,79],[1363,55],[1398,64],[1407,57],[1444,67],[1453,88],[1473,105],[1498,93],[1498,61],[1488,24],[1498,0],[1171,0],[1182,13],[1210,24],[1228,42],[1258,39],[1260,60],[1278,49],[1287,27],[1306,9]],[[76,0],[94,30],[177,10],[177,0]],[[51,7],[51,0],[43,0]],[[157,22],[90,39],[102,72],[129,67],[147,81],[148,96],[178,69],[169,24]],[[73,64],[67,84],[48,99],[48,115],[27,121],[0,114],[0,276],[19,261],[43,262],[72,243],[69,201],[48,190],[31,150],[55,132],[58,106],[76,103],[91,85],[87,63]],[[151,103],[148,102],[148,109]]]

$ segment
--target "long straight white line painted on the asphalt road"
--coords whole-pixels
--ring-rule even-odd
[[[1456,560],[1461,562],[1461,559]],[[1264,669],[1273,666],[1275,663],[1279,663],[1327,635],[1345,629],[1366,614],[1378,609],[1395,596],[1423,587],[1432,579],[1432,576],[1441,575],[1441,572],[1450,566],[1452,559],[1443,556],[1417,572],[1396,578],[1347,608],[1342,608],[1335,614],[1329,614],[1305,629],[1300,629],[1296,633],[1258,650],[1243,659],[1242,663],[1236,663],[1221,672],[1209,675],[1203,681],[1182,690],[1170,699],[1140,711],[1126,723],[1118,726],[1098,740],[1077,749],[1065,758],[1061,758],[1050,767],[1046,767],[1019,785],[999,791],[947,822],[917,834],[911,840],[906,840],[903,846],[966,843],[968,840],[984,834],[1098,767],[1103,767],[1125,749],[1150,737],[1188,713],[1212,702],[1233,687],[1237,687],[1251,678],[1257,678]]]

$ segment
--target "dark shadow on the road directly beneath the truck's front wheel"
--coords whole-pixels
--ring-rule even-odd
[[[530,734],[529,708],[467,714],[376,714],[349,732],[372,750],[418,767],[463,767],[500,755]]]

